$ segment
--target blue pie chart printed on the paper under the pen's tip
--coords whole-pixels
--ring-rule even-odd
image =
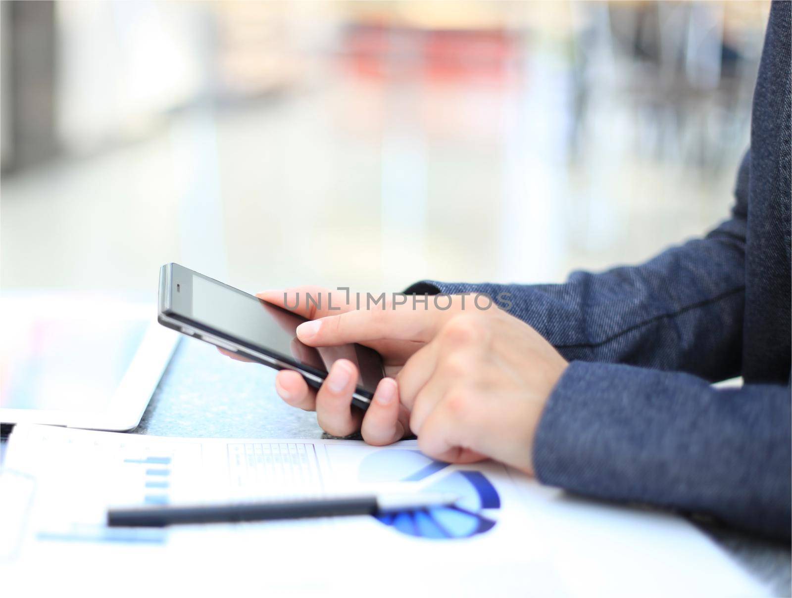
[[[420,451],[383,448],[364,458],[359,477],[365,482],[419,482],[447,466]],[[386,513],[376,519],[408,536],[430,539],[470,538],[495,526],[482,509],[500,509],[501,498],[480,471],[451,470],[421,490],[456,494],[460,499],[454,506]]]

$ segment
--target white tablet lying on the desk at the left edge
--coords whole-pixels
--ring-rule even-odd
[[[0,422],[131,430],[178,335],[108,293],[0,294]]]

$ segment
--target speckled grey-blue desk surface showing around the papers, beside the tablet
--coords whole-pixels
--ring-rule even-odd
[[[134,431],[158,436],[316,438],[313,413],[288,407],[274,390],[275,370],[224,358],[182,339]],[[790,596],[790,548],[725,529],[705,528],[776,596]]]

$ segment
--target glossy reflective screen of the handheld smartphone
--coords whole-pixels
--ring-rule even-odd
[[[360,345],[314,348],[297,339],[296,328],[307,321],[242,291],[231,290],[192,274],[192,320],[303,365],[328,372],[333,361],[348,359],[360,371],[358,386],[373,393],[382,379],[382,361],[374,350]]]

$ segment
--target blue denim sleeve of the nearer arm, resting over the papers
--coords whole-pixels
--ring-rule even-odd
[[[790,387],[569,364],[533,445],[536,477],[589,496],[710,513],[790,537]]]

